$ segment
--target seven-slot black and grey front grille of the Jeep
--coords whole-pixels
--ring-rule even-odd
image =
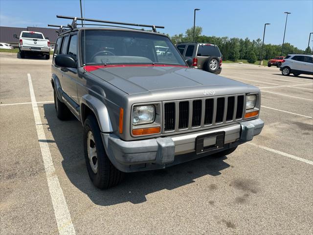
[[[163,103],[163,131],[182,131],[241,120],[244,115],[245,95],[173,100]]]

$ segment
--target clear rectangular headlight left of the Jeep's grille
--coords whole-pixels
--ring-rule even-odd
[[[155,120],[154,105],[135,106],[133,109],[133,125],[152,123]]]

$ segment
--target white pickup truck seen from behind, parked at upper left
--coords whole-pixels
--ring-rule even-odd
[[[14,38],[20,39],[20,55],[25,57],[26,53],[45,56],[45,59],[50,59],[50,41],[45,38],[44,34],[33,31],[22,31],[20,37],[16,34]]]

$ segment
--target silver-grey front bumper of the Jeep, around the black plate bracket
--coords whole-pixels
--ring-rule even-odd
[[[162,169],[235,147],[261,133],[264,126],[260,118],[242,121],[223,127],[201,130],[190,134],[140,141],[122,141],[114,134],[102,133],[102,139],[113,165],[121,171],[133,172]],[[196,138],[215,132],[224,132],[224,146],[201,154],[196,154]],[[208,140],[210,141],[210,140]],[[212,140],[212,144],[215,144]]]

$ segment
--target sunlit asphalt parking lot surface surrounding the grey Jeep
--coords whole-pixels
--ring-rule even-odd
[[[127,174],[99,190],[81,124],[55,115],[51,60],[0,54],[0,234],[312,235],[313,76],[244,64],[224,64],[221,75],[261,89],[259,136],[227,157]]]

